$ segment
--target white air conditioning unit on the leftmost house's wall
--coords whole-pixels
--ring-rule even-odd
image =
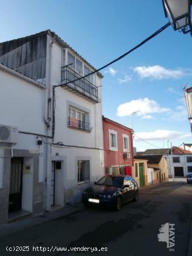
[[[17,143],[18,127],[0,125],[0,143]]]

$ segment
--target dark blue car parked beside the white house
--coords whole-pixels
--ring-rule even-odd
[[[138,200],[136,181],[128,175],[106,175],[85,189],[82,203],[103,205],[119,210],[128,201]]]

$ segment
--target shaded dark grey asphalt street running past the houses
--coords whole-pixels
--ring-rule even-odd
[[[1,237],[0,255],[186,256],[191,201],[191,184],[178,181],[152,185],[140,189],[139,201],[123,205],[119,212],[84,208],[78,213]],[[172,251],[166,247],[166,242],[159,242],[157,238],[161,225],[168,222],[175,228]],[[22,250],[24,246],[30,247],[29,251],[22,253],[6,251],[7,246],[20,246]],[[91,249],[64,252],[55,246],[67,247],[68,250],[71,247]],[[46,248],[44,253],[43,247]],[[41,251],[36,248],[41,248]],[[93,248],[100,251],[91,252]]]

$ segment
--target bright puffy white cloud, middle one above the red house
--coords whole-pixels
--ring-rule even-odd
[[[120,104],[117,109],[117,115],[119,117],[124,117],[131,115],[133,112],[137,112],[135,113],[136,115],[146,117],[152,113],[165,113],[169,111],[170,109],[161,108],[156,101],[149,100],[149,98],[139,98],[137,100]]]

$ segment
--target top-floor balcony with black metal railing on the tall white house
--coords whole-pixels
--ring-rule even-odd
[[[98,88],[86,79],[81,79],[76,82],[70,82],[76,80],[82,76],[78,75],[77,72],[69,67],[61,68],[61,83],[63,88],[69,90],[70,92],[79,95],[82,98],[92,102],[98,103]]]

